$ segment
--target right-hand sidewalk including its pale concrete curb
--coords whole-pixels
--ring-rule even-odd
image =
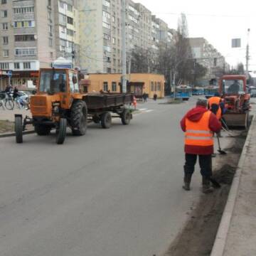
[[[256,117],[252,120],[211,256],[256,255],[255,155]]]

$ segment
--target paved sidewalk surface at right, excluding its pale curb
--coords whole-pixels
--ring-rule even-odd
[[[256,119],[242,165],[235,208],[228,230],[225,256],[256,255]]]

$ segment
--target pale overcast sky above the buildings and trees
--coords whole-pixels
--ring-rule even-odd
[[[135,0],[136,1],[136,0]],[[137,0],[153,14],[177,28],[178,16],[186,14],[190,37],[203,37],[222,53],[230,65],[245,64],[247,28],[250,28],[250,70],[256,70],[255,0]],[[241,48],[231,39],[241,38]]]

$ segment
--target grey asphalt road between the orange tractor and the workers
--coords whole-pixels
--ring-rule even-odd
[[[161,255],[198,201],[181,188],[181,105],[139,104],[129,126],[0,139],[1,256]]]

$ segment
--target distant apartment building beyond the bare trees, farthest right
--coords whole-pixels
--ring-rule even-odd
[[[205,38],[189,38],[193,58],[197,63],[207,68],[207,73],[201,83],[208,85],[210,80],[218,79],[224,71],[228,70],[225,57],[218,52]]]

